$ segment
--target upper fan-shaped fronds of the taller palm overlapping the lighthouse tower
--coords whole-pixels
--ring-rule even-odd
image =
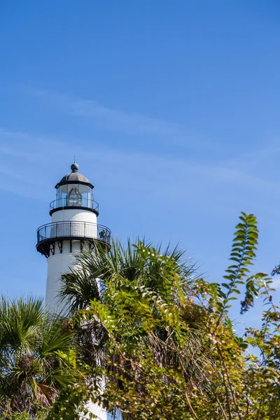
[[[143,246],[151,248],[152,244],[143,242]],[[163,257],[174,260],[176,267],[172,269],[183,276],[186,286],[193,281],[195,266],[190,264],[190,260],[181,260],[183,252],[178,246],[174,249],[167,246],[164,250],[162,246],[157,246],[155,253],[161,253]],[[127,241],[127,246],[123,246],[118,240],[113,241],[107,252],[104,252],[102,245],[97,244],[94,253],[89,251],[80,253],[76,267],[72,268],[69,274],[62,276],[59,296],[69,308],[69,313],[74,314],[77,310],[89,307],[91,300],[102,300],[102,290],[106,287],[106,283],[117,281],[120,276],[165,298],[171,293],[163,281],[169,275],[168,270],[169,267],[164,261],[155,262],[144,258],[140,248],[134,246],[130,239]]]

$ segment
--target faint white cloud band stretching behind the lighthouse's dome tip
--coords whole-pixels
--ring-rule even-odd
[[[10,186],[10,190],[16,192],[11,179],[14,178],[15,183],[22,179],[28,185],[20,193],[25,191],[30,195],[34,185],[50,186],[52,174],[52,183],[57,182],[62,171],[69,169],[65,164],[71,163],[74,154],[79,156],[85,168],[93,168],[87,172],[90,170],[97,179],[102,178],[104,185],[127,191],[145,190],[146,196],[158,200],[165,200],[167,192],[169,200],[177,203],[188,202],[188,197],[200,200],[204,196],[204,200],[211,201],[208,206],[225,208],[232,200],[238,200],[242,191],[252,195],[254,191],[279,188],[278,183],[246,172],[244,167],[232,165],[232,162],[230,165],[227,161],[202,164],[186,158],[119,151],[105,146],[76,146],[71,141],[8,130],[0,130],[0,157],[5,162],[0,172],[8,179],[8,183],[2,185],[5,189]],[[45,198],[45,190],[37,190],[36,197]]]

